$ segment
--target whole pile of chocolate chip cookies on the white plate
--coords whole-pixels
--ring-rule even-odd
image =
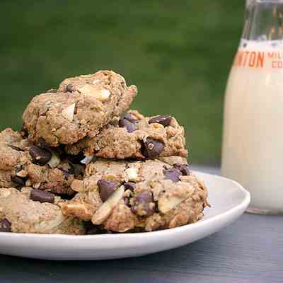
[[[31,100],[21,132],[0,133],[0,231],[123,233],[202,218],[207,189],[188,168],[183,127],[127,111],[136,94],[98,71]]]

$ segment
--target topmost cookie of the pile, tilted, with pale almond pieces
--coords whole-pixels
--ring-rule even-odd
[[[35,144],[74,144],[95,137],[114,117],[125,112],[137,94],[114,71],[65,79],[54,93],[35,96],[23,113],[23,129]]]

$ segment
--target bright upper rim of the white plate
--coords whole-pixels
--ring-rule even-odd
[[[36,238],[58,238],[58,239],[64,239],[64,240],[71,240],[71,241],[81,241],[81,239],[84,238],[93,238],[95,239],[100,239],[100,238],[105,238],[110,240],[111,238],[115,239],[127,239],[127,238],[144,238],[148,237],[150,235],[152,236],[172,236],[174,233],[182,233],[182,231],[188,231],[190,229],[194,229],[195,227],[202,227],[202,226],[207,226],[215,221],[219,221],[220,219],[226,218],[227,215],[233,215],[234,212],[237,211],[244,211],[246,207],[248,207],[248,204],[250,203],[250,192],[246,190],[241,184],[236,182],[235,180],[231,180],[229,178],[225,178],[220,175],[215,175],[215,174],[210,174],[210,173],[205,173],[202,171],[193,171],[196,174],[202,174],[202,175],[209,175],[210,177],[220,179],[220,180],[226,180],[238,188],[243,193],[243,201],[240,204],[237,204],[235,207],[231,207],[228,209],[226,212],[223,212],[221,214],[216,214],[212,216],[209,219],[202,219],[201,221],[197,221],[195,223],[191,224],[185,224],[183,226],[175,227],[172,229],[163,229],[159,231],[150,231],[150,232],[137,232],[137,233],[115,233],[115,234],[95,234],[95,235],[66,235],[66,234],[59,234],[59,233],[54,233],[54,234],[49,234],[49,233],[6,233],[6,232],[0,232],[0,238],[2,236],[11,236],[13,238],[33,238],[36,236]],[[209,190],[209,189],[208,189]],[[166,235],[164,235],[166,234]]]

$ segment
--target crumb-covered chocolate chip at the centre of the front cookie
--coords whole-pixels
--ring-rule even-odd
[[[132,212],[141,216],[150,216],[155,212],[154,198],[151,192],[140,192],[135,198]]]

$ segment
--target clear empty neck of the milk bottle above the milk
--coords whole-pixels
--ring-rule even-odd
[[[283,0],[247,0],[242,38],[283,40]]]

